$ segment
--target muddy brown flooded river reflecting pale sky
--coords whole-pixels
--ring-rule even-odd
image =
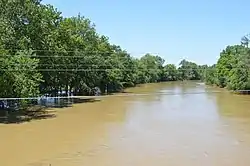
[[[55,118],[0,124],[0,165],[250,165],[250,96],[194,82],[127,91],[151,95],[110,96],[53,109]]]

